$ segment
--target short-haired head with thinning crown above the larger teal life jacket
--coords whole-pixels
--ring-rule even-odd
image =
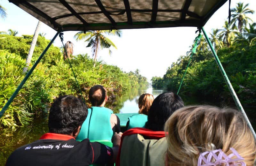
[[[89,90],[89,100],[92,106],[100,106],[107,95],[107,90],[101,85],[94,85]]]

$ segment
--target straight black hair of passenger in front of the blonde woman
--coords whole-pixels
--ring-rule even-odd
[[[164,124],[172,113],[184,103],[180,96],[173,92],[159,94],[148,110],[148,122],[146,127],[154,131],[164,131]]]

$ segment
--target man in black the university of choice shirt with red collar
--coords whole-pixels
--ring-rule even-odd
[[[84,165],[113,163],[116,160],[122,133],[113,136],[113,147],[84,139],[75,140],[87,117],[86,104],[75,96],[60,96],[49,112],[49,132],[39,140],[16,149],[6,166]],[[88,118],[88,117],[87,117]]]

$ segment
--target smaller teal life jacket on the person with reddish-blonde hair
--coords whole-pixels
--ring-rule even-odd
[[[126,124],[127,130],[134,127],[143,127],[145,128],[145,124],[148,121],[148,116],[144,114],[134,114],[131,117],[128,117],[128,122]]]

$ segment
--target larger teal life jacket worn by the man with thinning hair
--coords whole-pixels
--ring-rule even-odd
[[[113,111],[106,107],[92,107],[88,109],[88,115],[82,124],[76,140],[82,141],[88,138],[90,141],[111,141],[113,130],[110,124],[110,116],[112,113]]]

